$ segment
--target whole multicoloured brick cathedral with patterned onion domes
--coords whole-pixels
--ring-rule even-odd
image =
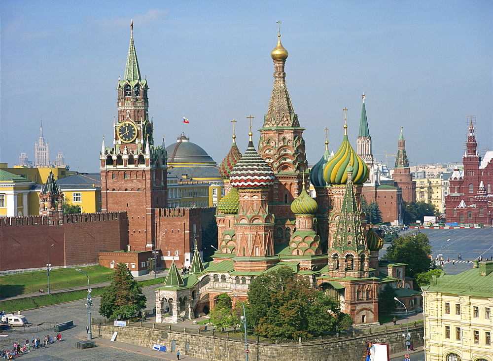
[[[305,128],[286,86],[288,52],[280,34],[271,57],[274,87],[258,147],[253,144],[251,122],[243,154],[233,128],[233,143],[219,166],[225,196],[215,215],[217,251],[208,263],[195,252],[184,276],[172,262],[164,285],[156,289],[156,322],[176,323],[208,313],[221,293],[246,300],[249,283],[257,275],[282,266],[340,300],[355,325],[378,323],[378,294],[385,285],[396,288],[411,311],[420,310],[421,297],[405,276],[405,264],[379,263],[383,241],[360,209],[373,156],[352,148],[347,109],[342,144],[331,156],[326,141],[324,155],[310,171]],[[366,113],[361,122],[360,136],[361,129],[368,129]],[[369,146],[361,148],[371,153],[369,133],[363,133]],[[315,199],[307,192],[309,182]]]

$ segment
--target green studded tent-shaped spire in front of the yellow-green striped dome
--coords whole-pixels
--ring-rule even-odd
[[[346,171],[348,172],[348,181],[344,191],[344,199],[332,249],[339,251],[341,254],[347,251],[353,251],[358,254],[366,250],[365,236],[359,220],[360,212],[352,183],[352,166],[348,166]]]

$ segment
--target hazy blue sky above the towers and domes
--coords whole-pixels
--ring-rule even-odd
[[[186,135],[216,162],[232,119],[244,151],[246,116],[259,129],[268,108],[281,21],[310,164],[324,128],[339,147],[345,107],[355,147],[363,92],[375,154],[396,152],[402,126],[411,165],[461,162],[468,115],[480,151],[493,147],[492,10],[483,0],[1,1],[0,162],[34,160],[42,120],[51,159],[63,151],[72,170],[99,170],[130,19],[157,144],[176,142],[184,114]]]

